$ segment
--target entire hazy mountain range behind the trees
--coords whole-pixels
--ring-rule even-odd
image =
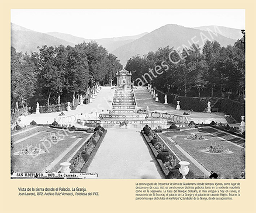
[[[216,33],[215,33],[216,32]],[[216,40],[222,46],[233,45],[237,39],[241,39],[241,30],[220,26],[201,26],[195,28],[179,25],[165,25],[150,33],[142,33],[135,36],[124,36],[105,39],[84,39],[71,34],[49,32],[35,32],[25,27],[11,23],[11,46],[16,51],[32,53],[39,51],[37,47],[47,46],[75,46],[82,42],[96,41],[105,47],[109,53],[115,54],[120,62],[125,65],[133,55],[144,55],[149,51],[157,51],[160,47],[184,47],[197,43],[199,46],[205,40]]]

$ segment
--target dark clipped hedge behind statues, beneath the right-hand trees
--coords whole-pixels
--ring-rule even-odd
[[[159,102],[164,103],[165,93],[156,90],[158,93]],[[207,109],[207,103],[210,101],[212,108],[219,108],[220,112],[233,116],[238,122],[241,121],[241,116],[245,116],[245,104],[236,102],[222,97],[184,97],[168,93],[168,104],[177,105],[177,100],[182,110],[204,111]]]

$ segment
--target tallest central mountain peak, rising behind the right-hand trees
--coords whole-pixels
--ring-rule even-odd
[[[203,45],[203,40],[209,38],[210,40],[218,41],[222,46],[234,44],[236,40],[229,39],[220,34],[212,37],[208,32],[183,27],[179,25],[165,25],[151,33],[146,34],[140,39],[134,40],[129,44],[117,48],[112,53],[115,54],[122,64],[126,64],[133,55],[144,55],[150,51],[157,51],[160,47],[174,47],[191,46],[192,43],[197,43],[199,46]]]

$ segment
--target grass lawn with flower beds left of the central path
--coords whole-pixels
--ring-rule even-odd
[[[63,153],[66,149],[70,148],[70,146],[72,146],[72,144],[74,144],[74,142],[77,141],[78,138],[82,138],[81,141],[79,141],[78,144],[75,145],[71,149],[71,151],[66,154],[66,156],[63,156],[63,159],[61,159],[59,162],[61,163],[63,162],[64,158],[68,158],[67,156],[70,156],[72,152],[74,152],[78,148],[79,145],[85,142],[85,140],[90,135],[85,132],[71,132],[62,130],[60,131],[47,127],[41,128],[41,130],[44,131],[40,131],[40,134],[34,135],[31,138],[25,139],[25,141],[13,145],[13,149],[11,152],[11,165],[13,172],[42,172],[44,169],[46,169],[47,166],[51,164],[51,162],[54,161],[54,159],[61,155],[61,153]],[[50,134],[53,134],[51,132],[46,132],[45,130],[50,130],[51,132],[58,132],[58,135],[60,135],[61,138],[64,138],[64,140],[54,143],[40,141],[41,139],[43,139],[43,137],[49,137]],[[37,145],[37,147],[40,147],[46,153],[42,153],[40,155],[37,155],[36,157],[30,155],[13,155],[13,153],[18,151],[18,149],[22,148],[22,145],[24,148],[26,147],[26,145],[33,145],[33,147]],[[59,165],[59,163],[57,163],[57,165]]]

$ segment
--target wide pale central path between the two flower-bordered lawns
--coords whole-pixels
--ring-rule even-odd
[[[163,179],[140,131],[108,129],[87,172],[99,179]]]

